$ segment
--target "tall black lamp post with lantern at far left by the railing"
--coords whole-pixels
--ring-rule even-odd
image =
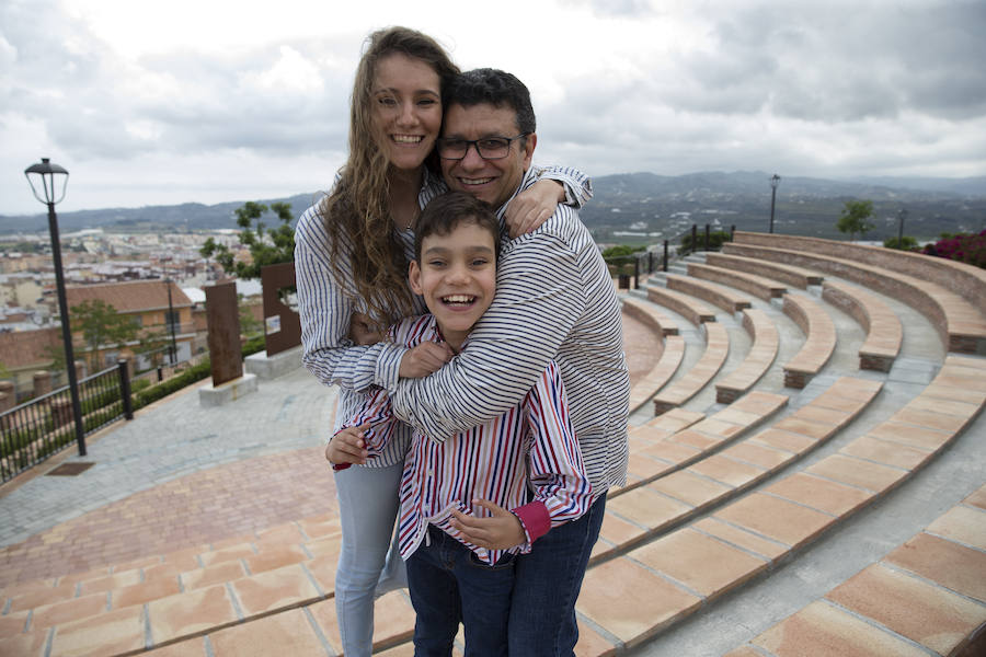
[[[24,170],[24,176],[31,185],[34,197],[48,206],[48,232],[51,234],[51,260],[55,264],[55,286],[58,290],[58,309],[61,316],[61,339],[65,342],[65,369],[68,371],[69,392],[72,396],[72,417],[76,420],[76,442],[79,445],[79,456],[85,456],[85,427],[82,424],[82,404],[79,402],[79,381],[76,377],[76,356],[72,351],[72,330],[69,326],[68,302],[65,297],[65,275],[61,270],[61,240],[58,237],[58,217],[55,215],[55,204],[65,198],[68,187],[68,171],[58,164],[53,164],[48,158],[42,158],[39,164],[32,164]],[[37,186],[32,180],[35,176]],[[58,194],[56,176],[61,177],[61,193]],[[38,194],[38,187],[44,197]]]

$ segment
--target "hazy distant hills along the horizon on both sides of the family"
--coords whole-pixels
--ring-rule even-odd
[[[628,173],[594,178],[595,198],[582,218],[600,242],[634,241],[621,234],[639,232],[641,241],[676,238],[691,223],[727,229],[767,230],[770,217],[770,174],[765,172],[701,172],[678,176]],[[299,215],[316,193],[285,201]],[[898,212],[907,210],[905,234],[930,239],[941,232],[986,228],[986,177],[860,178],[837,181],[782,177],[777,189],[775,230],[839,238],[835,222],[848,199],[874,204],[876,228],[867,239],[896,235]],[[59,212],[64,232],[84,228],[113,231],[186,231],[236,228],[233,210],[244,200],[217,205],[183,204]],[[43,232],[45,215],[0,216],[0,233]]]

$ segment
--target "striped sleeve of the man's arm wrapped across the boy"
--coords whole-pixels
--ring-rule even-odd
[[[572,210],[559,207],[558,212]],[[578,256],[559,230],[564,221],[555,218],[507,246],[498,263],[496,298],[462,353],[434,374],[402,379],[391,390],[398,418],[428,438],[445,439],[524,399],[585,304]]]

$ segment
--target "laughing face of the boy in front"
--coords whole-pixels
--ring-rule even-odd
[[[442,335],[458,349],[496,292],[496,245],[475,221],[460,221],[449,234],[428,235],[421,262],[412,262],[411,289],[424,297]]]

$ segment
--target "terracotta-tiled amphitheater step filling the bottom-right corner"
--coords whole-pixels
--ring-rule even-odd
[[[724,657],[927,655],[919,646],[986,654],[986,486]]]

